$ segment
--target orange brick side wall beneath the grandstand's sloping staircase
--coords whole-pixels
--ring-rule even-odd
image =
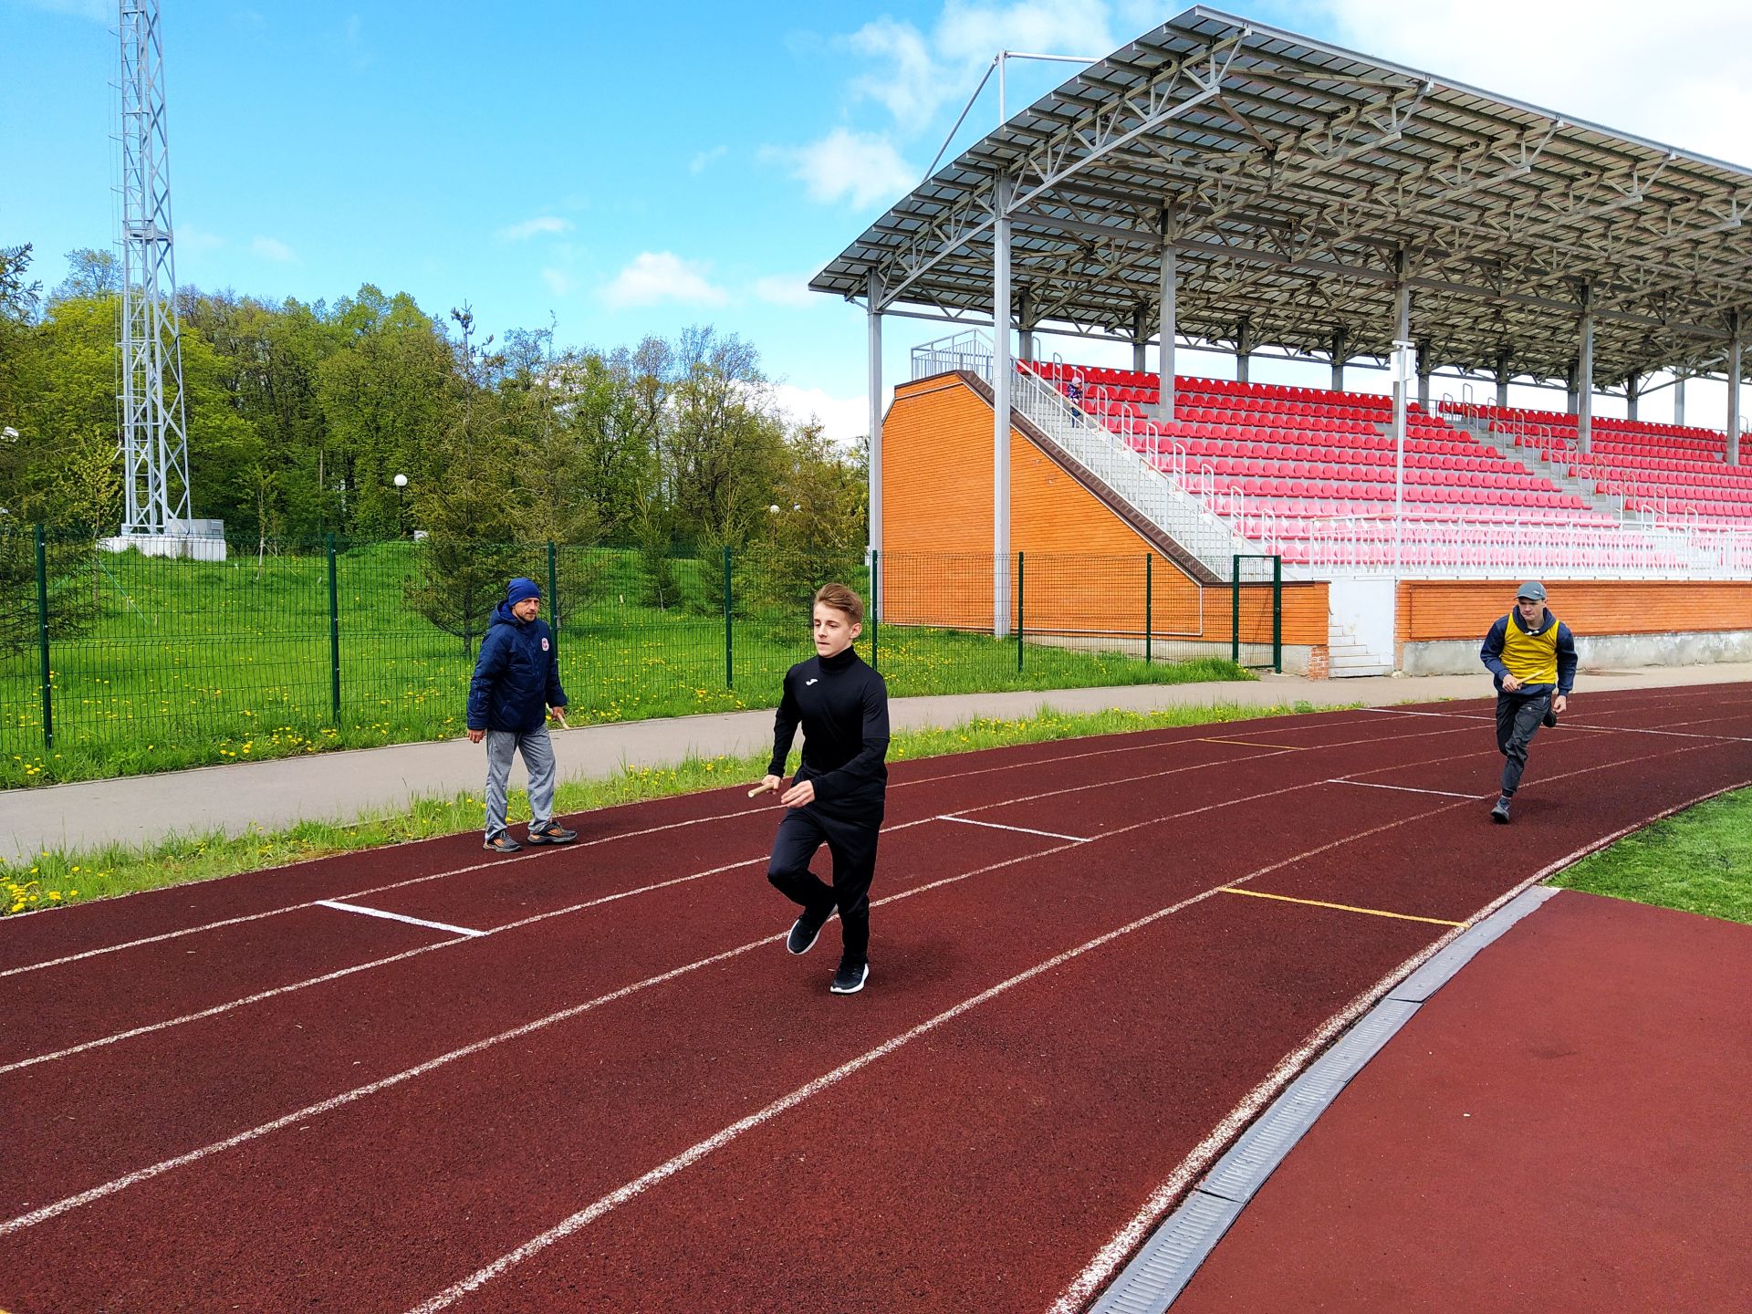
[[[990,627],[990,403],[955,377],[902,384],[883,420],[881,450],[885,618]],[[1025,629],[1142,634],[1148,555],[1151,632],[1230,639],[1226,585],[1200,589],[1014,429],[1009,478],[1009,538],[1011,552],[1023,554]],[[1284,643],[1325,645],[1326,585],[1284,585],[1282,625]],[[1268,587],[1244,589],[1240,631],[1247,641],[1270,639]]]

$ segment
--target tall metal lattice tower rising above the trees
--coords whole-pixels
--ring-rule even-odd
[[[121,4],[121,457],[128,534],[189,519],[158,0]]]

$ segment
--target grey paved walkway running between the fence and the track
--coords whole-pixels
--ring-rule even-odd
[[[1752,680],[1752,662],[1584,671],[1587,690]],[[976,717],[1018,718],[1041,708],[1083,713],[1169,706],[1391,706],[1447,697],[1484,697],[1489,678],[1372,676],[1305,680],[1267,675],[1258,682],[1202,685],[1127,685],[1016,694],[955,694],[894,699],[897,731],[948,727]],[[554,752],[561,780],[601,780],[624,767],[673,766],[687,757],[757,753],[771,745],[773,713],[734,711],[710,717],[618,722],[559,731]],[[109,843],[154,844],[175,834],[242,834],[251,825],[279,830],[300,820],[350,822],[361,813],[405,808],[415,797],[452,797],[480,790],[485,750],[468,739],[389,745],[340,753],[238,762],[166,771],[152,776],[51,785],[0,792],[0,862],[44,848],[95,848]],[[520,771],[520,769],[519,769]],[[519,778],[513,773],[513,781]]]

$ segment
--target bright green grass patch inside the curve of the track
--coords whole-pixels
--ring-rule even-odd
[[[1656,822],[1551,883],[1752,925],[1752,790]]]

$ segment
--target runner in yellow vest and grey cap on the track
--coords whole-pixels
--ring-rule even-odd
[[[1556,725],[1570,710],[1575,636],[1545,610],[1545,585],[1528,580],[1515,592],[1514,611],[1498,617],[1484,636],[1479,657],[1496,678],[1496,748],[1505,759],[1491,820],[1508,825],[1508,801],[1521,787],[1528,745],[1540,725]]]

